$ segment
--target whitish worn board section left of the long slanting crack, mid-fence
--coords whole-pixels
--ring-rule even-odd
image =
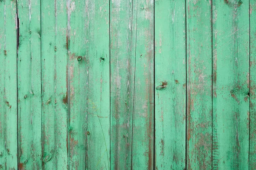
[[[129,170],[132,160],[137,1],[111,0],[110,5],[111,168]]]

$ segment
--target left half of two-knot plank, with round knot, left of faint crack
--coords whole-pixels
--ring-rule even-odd
[[[69,167],[86,169],[88,116],[87,1],[67,0],[68,9],[68,87],[69,87]]]

